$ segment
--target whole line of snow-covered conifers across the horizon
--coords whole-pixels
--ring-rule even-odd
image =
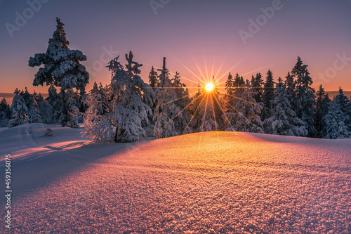
[[[1,126],[41,122],[79,127],[95,141],[131,142],[141,136],[165,138],[201,131],[246,131],[253,133],[315,138],[348,138],[351,131],[351,103],[343,89],[331,100],[321,84],[312,89],[307,65],[298,57],[296,65],[274,82],[271,70],[257,73],[251,80],[230,73],[225,91],[207,91],[198,84],[192,94],[178,72],[171,77],[166,58],[159,70],[152,67],[148,83],[140,77],[141,64],[126,54],[107,64],[108,85],[94,84],[86,93],[89,74],[81,62],[86,56],[71,50],[64,24],[49,39],[46,53],[29,58],[29,66],[39,67],[34,86],[48,85],[48,97],[15,90],[11,107],[0,103]],[[58,91],[60,89],[60,91]]]

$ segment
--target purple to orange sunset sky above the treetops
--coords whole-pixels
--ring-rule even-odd
[[[338,86],[351,90],[351,0],[282,0],[282,8],[246,44],[239,30],[249,32],[249,20],[260,18],[260,8],[272,7],[274,1],[168,0],[157,14],[148,0],[46,1],[30,15],[27,1],[0,0],[0,93],[25,86],[31,93],[47,92],[46,86],[32,86],[38,67],[28,67],[28,60],[46,51],[55,17],[65,23],[69,47],[88,58],[83,63],[91,74],[87,90],[94,82],[110,83],[107,64],[101,67],[110,59],[105,53],[109,48],[111,56],[121,55],[122,64],[124,54],[133,51],[134,60],[143,64],[145,81],[150,66],[161,67],[164,56],[168,70],[180,72],[189,87],[212,74],[224,82],[229,71],[251,79],[256,72],[265,77],[270,69],[277,80],[300,56],[315,88],[323,84],[327,91]],[[24,11],[29,19],[11,37],[6,23],[16,25],[16,13]],[[336,62],[336,70],[334,62],[343,54],[350,59]],[[322,79],[320,74],[328,72]]]

